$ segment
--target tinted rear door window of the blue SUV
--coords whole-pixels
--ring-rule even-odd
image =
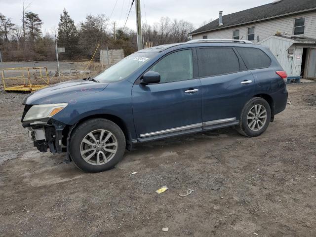
[[[199,48],[199,77],[240,71],[239,60],[233,48]]]

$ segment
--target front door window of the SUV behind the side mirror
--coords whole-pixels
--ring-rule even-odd
[[[192,50],[171,53],[150,70],[160,74],[160,83],[193,79]]]

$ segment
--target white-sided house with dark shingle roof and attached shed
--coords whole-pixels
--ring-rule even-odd
[[[316,79],[316,0],[275,0],[228,15],[220,12],[189,35],[265,44],[289,76]]]

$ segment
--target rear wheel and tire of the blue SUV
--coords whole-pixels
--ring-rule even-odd
[[[259,112],[257,113],[256,110]],[[264,111],[266,112],[264,113]],[[266,117],[265,120],[264,117]],[[253,97],[244,105],[236,130],[243,136],[256,137],[267,129],[270,120],[271,108],[269,103],[263,98]]]

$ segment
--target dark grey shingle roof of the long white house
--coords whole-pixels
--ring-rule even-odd
[[[295,12],[307,11],[311,8],[316,8],[316,0],[281,0],[276,3],[269,3],[229,15],[223,15],[222,26],[218,26],[219,20],[216,19],[189,33],[189,35],[233,27],[248,22],[262,21],[267,18],[275,18],[284,14],[294,14]]]

